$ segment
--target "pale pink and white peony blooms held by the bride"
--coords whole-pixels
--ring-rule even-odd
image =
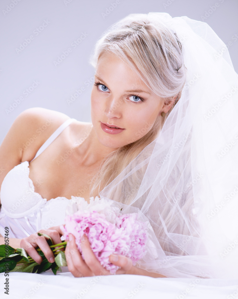
[[[129,257],[133,266],[146,254],[147,225],[138,220],[137,213],[122,214],[113,201],[90,197],[88,204],[82,197],[73,197],[67,208],[65,225],[61,226],[65,240],[73,234],[82,254],[81,237],[85,234],[101,265],[115,274],[120,268],[110,263],[111,254]]]

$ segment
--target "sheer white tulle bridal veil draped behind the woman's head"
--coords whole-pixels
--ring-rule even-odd
[[[238,278],[237,73],[206,23],[168,13],[148,18],[176,32],[186,83],[158,137],[99,196],[148,222],[140,268]]]

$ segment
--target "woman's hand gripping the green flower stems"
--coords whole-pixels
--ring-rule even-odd
[[[53,226],[49,229],[41,229],[39,233],[50,236],[53,244],[59,244],[62,242],[60,239],[62,236],[60,226]],[[53,263],[55,261],[54,254],[45,237],[38,236],[38,233],[31,234],[29,237],[23,238],[20,242],[20,247],[24,248],[27,254],[30,255],[30,257],[32,257],[38,264],[42,262],[42,257],[36,251],[36,247],[39,247],[42,250],[49,263]]]

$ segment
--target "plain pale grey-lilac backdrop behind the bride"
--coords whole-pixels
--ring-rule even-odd
[[[14,3],[17,3],[16,5]],[[112,3],[113,10],[109,10]],[[211,7],[215,7],[212,13]],[[112,8],[112,7],[111,7]],[[7,11],[9,10],[9,11]],[[110,12],[108,15],[102,14]],[[1,0],[0,1],[0,143],[15,118],[30,107],[44,107],[63,112],[72,118],[91,122],[90,94],[94,68],[88,63],[91,51],[101,34],[113,23],[130,13],[167,12],[172,17],[188,16],[204,22],[217,33],[225,44],[232,42],[228,50],[238,72],[237,0]],[[36,36],[46,20],[48,25]],[[44,23],[46,25],[46,23]],[[76,48],[71,43],[82,33],[87,36]],[[34,39],[19,53],[25,39]],[[57,57],[71,48],[72,52],[55,66]],[[33,82],[39,84],[26,96],[26,89]],[[76,89],[85,90],[68,104],[67,99]],[[20,97],[23,100],[18,100]],[[19,103],[9,110],[10,105]]]

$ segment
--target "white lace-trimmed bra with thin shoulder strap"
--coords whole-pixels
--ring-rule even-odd
[[[45,141],[39,148],[33,161],[38,157],[74,118],[70,118]],[[31,162],[30,161],[30,162]],[[24,161],[16,165],[5,176],[0,190],[0,234],[9,228],[10,238],[24,238],[40,229],[60,225],[65,219],[65,208],[69,200],[56,197],[47,201],[35,192],[33,181],[29,178],[29,163]]]

